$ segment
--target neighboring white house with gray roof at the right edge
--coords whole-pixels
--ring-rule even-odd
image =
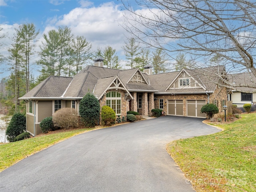
[[[251,80],[251,84],[255,85],[256,83],[256,78],[254,76],[250,76],[248,72],[228,75],[228,79],[230,83],[236,86],[239,86],[241,84],[250,84]],[[248,87],[241,87],[240,89],[243,92],[232,90],[232,92],[228,94],[228,100],[232,101],[232,103],[234,105],[237,105],[237,107],[243,107],[244,104],[256,105],[256,93],[246,93],[256,91],[256,89]]]

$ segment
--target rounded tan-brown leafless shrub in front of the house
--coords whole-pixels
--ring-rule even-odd
[[[52,116],[54,126],[69,129],[76,128],[78,125],[78,113],[73,108],[62,108]]]

